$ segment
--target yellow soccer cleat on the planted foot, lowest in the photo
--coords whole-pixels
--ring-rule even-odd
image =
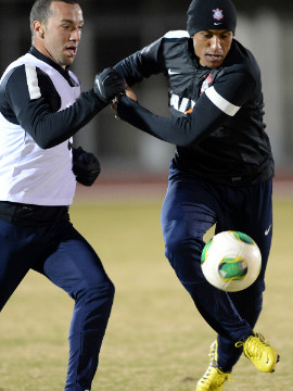
[[[231,379],[230,373],[218,368],[218,342],[214,341],[209,349],[209,365],[204,376],[199,380],[195,391],[221,391],[226,380]]]

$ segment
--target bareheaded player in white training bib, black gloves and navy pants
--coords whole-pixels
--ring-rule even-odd
[[[82,24],[76,1],[37,0],[33,47],[0,83],[0,311],[30,268],[75,300],[66,391],[90,390],[114,297],[99,256],[69,222],[76,180],[90,185],[99,174],[92,155],[73,156],[72,136],[125,86],[105,70],[80,94],[68,66]]]

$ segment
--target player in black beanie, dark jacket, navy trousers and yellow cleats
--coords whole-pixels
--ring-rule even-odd
[[[118,116],[177,146],[162,210],[166,256],[199,312],[218,337],[196,390],[221,390],[242,352],[273,371],[276,350],[253,331],[262,311],[272,232],[273,159],[263,123],[260,72],[233,38],[230,0],[193,0],[188,33],[170,31],[114,67],[131,86],[153,74],[169,85],[171,118],[149,112],[133,92],[119,97]],[[238,230],[262,252],[262,272],[247,289],[227,293],[201,272],[204,234]]]

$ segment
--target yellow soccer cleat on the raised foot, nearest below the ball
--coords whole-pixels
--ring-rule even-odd
[[[258,332],[253,332],[245,342],[237,342],[237,348],[243,346],[244,355],[254,366],[264,373],[273,373],[280,356],[269,342]]]

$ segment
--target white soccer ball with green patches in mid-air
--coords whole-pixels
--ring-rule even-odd
[[[247,235],[228,230],[215,235],[204,247],[202,270],[209,283],[226,292],[249,288],[262,267],[262,254]]]

